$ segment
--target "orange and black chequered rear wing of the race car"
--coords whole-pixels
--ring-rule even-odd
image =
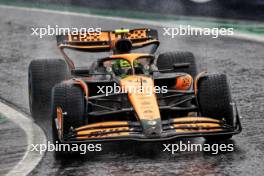
[[[119,39],[131,41],[132,49],[155,44],[155,51],[159,45],[158,32],[155,29],[118,29],[115,31],[102,31],[93,33],[78,33],[57,35],[59,48],[71,48],[86,50],[88,52],[110,51],[115,48],[115,42]],[[154,51],[154,52],[155,52]]]

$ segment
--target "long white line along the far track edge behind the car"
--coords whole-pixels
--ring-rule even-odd
[[[0,8],[8,8],[13,10],[23,10],[23,11],[30,11],[30,12],[41,12],[41,13],[50,13],[50,14],[60,14],[60,15],[71,15],[71,16],[78,16],[78,17],[89,17],[89,18],[96,18],[96,19],[104,19],[104,20],[114,20],[114,21],[122,21],[128,23],[137,23],[157,27],[177,27],[177,25],[173,24],[173,21],[169,22],[162,22],[162,21],[150,21],[144,19],[131,19],[131,18],[123,18],[123,17],[111,17],[111,16],[103,16],[103,15],[93,15],[93,14],[86,14],[86,13],[77,13],[77,12],[65,12],[65,11],[57,11],[57,10],[49,10],[49,9],[40,9],[40,8],[28,8],[28,7],[17,7],[17,6],[9,6],[9,5],[0,5]],[[195,26],[193,26],[195,27]],[[255,34],[247,34],[235,31],[234,35],[230,35],[228,37],[249,40],[254,42],[261,42],[264,43],[264,37],[255,35]]]

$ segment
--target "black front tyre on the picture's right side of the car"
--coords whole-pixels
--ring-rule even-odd
[[[204,117],[224,119],[226,124],[234,126],[232,98],[227,76],[224,74],[206,75],[198,81],[198,95],[200,113]],[[225,140],[232,135],[218,135],[205,137],[207,140]]]

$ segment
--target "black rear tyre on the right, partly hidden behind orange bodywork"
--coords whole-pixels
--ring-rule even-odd
[[[187,68],[178,68],[177,72],[184,72],[191,75],[193,78],[197,75],[197,66],[194,55],[191,52],[166,52],[159,55],[157,67],[159,70],[172,69],[172,66],[177,63],[189,63]]]

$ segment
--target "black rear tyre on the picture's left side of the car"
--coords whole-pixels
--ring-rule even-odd
[[[28,69],[29,107],[32,116],[49,110],[52,87],[67,79],[68,67],[61,59],[31,61]]]

